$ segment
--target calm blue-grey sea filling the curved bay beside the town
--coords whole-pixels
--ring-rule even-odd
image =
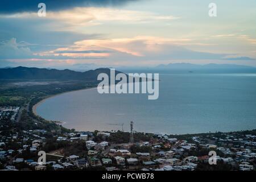
[[[160,73],[159,98],[80,90],[49,98],[37,113],[79,131],[170,134],[256,129],[255,73]]]

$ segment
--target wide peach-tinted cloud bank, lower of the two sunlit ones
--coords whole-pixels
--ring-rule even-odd
[[[55,55],[80,57],[84,53],[102,56],[105,64],[133,64],[143,61],[222,59],[225,54],[198,52],[184,48],[190,39],[168,39],[154,36],[136,36],[121,39],[91,39],[75,42],[73,46],[51,51]],[[93,50],[93,51],[92,51]],[[47,55],[49,52],[44,52]],[[71,55],[72,54],[72,55]],[[84,56],[84,55],[83,55]],[[93,60],[93,59],[92,59]]]

